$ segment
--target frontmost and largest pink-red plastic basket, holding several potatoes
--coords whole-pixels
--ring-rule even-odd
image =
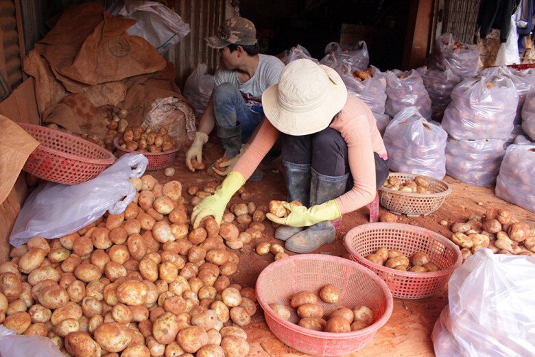
[[[299,318],[289,299],[302,290],[318,293],[326,284],[340,288],[342,295],[336,304],[325,304],[318,299],[325,316],[337,308],[364,305],[374,314],[372,325],[346,333],[321,332],[297,325]],[[286,345],[315,356],[341,356],[357,351],[372,340],[392,315],[393,301],[388,286],[369,269],[335,256],[302,254],[277,260],[260,273],[256,289],[265,321],[275,336]],[[287,306],[292,312],[290,321],[278,316],[270,304]]]

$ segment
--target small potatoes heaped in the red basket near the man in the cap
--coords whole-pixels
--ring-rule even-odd
[[[148,126],[143,128],[141,125],[134,127],[127,126],[122,133],[121,130],[122,127],[118,127],[118,132],[121,134],[118,144],[123,149],[159,153],[171,151],[176,145],[175,139],[167,134],[167,128],[165,127],[161,127],[158,132],[153,132]]]

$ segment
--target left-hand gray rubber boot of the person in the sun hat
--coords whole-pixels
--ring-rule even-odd
[[[310,164],[294,164],[283,161],[286,179],[286,189],[288,191],[288,202],[300,201],[303,206],[309,206],[310,197]],[[275,230],[275,238],[286,241],[294,234],[301,232],[304,227],[290,227],[281,225]]]

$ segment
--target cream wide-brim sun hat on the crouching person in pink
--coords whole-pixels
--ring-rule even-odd
[[[264,91],[262,106],[279,132],[299,136],[328,127],[346,99],[346,85],[334,69],[300,59],[290,62],[278,84]]]

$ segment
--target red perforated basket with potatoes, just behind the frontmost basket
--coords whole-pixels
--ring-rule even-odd
[[[462,263],[459,247],[448,238],[403,223],[359,225],[347,232],[344,245],[357,262],[375,271],[386,282],[392,295],[400,299],[422,299],[435,294]],[[429,261],[436,264],[440,270],[429,273],[399,271],[365,258],[380,247],[399,249],[407,258],[417,251],[423,251],[429,255]]]

